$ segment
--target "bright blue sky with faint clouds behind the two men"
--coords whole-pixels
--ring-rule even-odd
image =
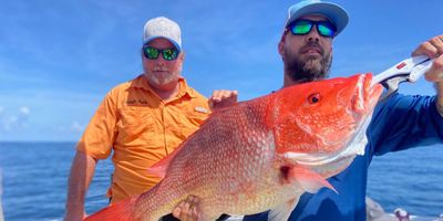
[[[182,27],[183,75],[204,95],[238,90],[244,101],[279,88],[277,43],[295,2],[1,0],[0,140],[78,140],[105,93],[141,73],[143,25],[158,15]],[[331,76],[379,73],[443,33],[441,0],[334,2],[350,23],[334,40]],[[434,94],[424,80],[401,92]]]

